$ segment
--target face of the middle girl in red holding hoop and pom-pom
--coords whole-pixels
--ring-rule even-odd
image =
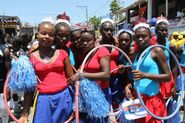
[[[95,47],[95,39],[89,32],[84,32],[80,36],[80,47],[86,53]]]

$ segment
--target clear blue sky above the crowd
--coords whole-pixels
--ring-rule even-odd
[[[112,0],[1,0],[0,15],[19,16],[22,22],[38,24],[42,18],[51,16],[56,18],[64,11],[70,16],[72,23],[86,20],[85,8],[87,6],[88,16],[104,16],[109,13]],[[123,1],[123,0],[121,0]],[[125,0],[126,4],[128,1]]]

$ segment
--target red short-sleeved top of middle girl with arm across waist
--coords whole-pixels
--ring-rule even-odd
[[[105,56],[110,56],[110,52],[108,51],[108,49],[105,47],[99,48],[98,51],[96,51],[96,53],[93,55],[93,57],[91,57],[90,60],[87,61],[87,63],[85,64],[84,71],[89,73],[100,72],[100,59]],[[102,89],[106,89],[109,87],[109,80],[97,81],[97,83],[100,84],[100,87]]]

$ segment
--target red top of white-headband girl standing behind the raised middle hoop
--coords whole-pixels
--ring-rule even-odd
[[[111,60],[110,60],[110,70],[114,70],[118,67],[117,65],[117,62],[119,60],[119,51],[117,49],[114,49],[112,52],[111,52]],[[114,71],[113,73],[111,73],[111,75],[117,75],[118,74],[118,71]]]

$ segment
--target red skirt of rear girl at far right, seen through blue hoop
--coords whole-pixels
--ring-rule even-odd
[[[174,77],[171,73],[171,80],[169,82],[160,82],[159,85],[160,85],[160,91],[161,91],[161,94],[163,95],[163,97],[165,99],[169,98],[172,94],[171,94],[171,90],[174,86]]]

